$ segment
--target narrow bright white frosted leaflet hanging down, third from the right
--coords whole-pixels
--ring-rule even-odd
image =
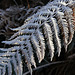
[[[52,30],[54,32],[54,40],[57,46],[57,52],[58,52],[58,56],[60,56],[60,52],[61,52],[61,41],[59,38],[59,27],[58,24],[56,23],[56,19],[51,17],[51,23],[52,23]]]

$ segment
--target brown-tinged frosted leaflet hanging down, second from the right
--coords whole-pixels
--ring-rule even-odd
[[[68,37],[69,37],[68,24],[67,24],[67,21],[65,20],[63,12],[57,12],[57,14],[58,14],[58,24],[59,24],[59,27],[61,28],[61,32],[64,39],[64,46],[65,46],[65,49],[67,50]]]

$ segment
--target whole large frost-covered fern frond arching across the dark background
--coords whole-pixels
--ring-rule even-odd
[[[23,75],[23,63],[26,63],[32,74],[32,65],[36,68],[36,56],[40,63],[46,50],[50,53],[51,61],[55,53],[60,56],[63,45],[67,51],[74,35],[74,4],[74,0],[54,0],[28,17],[21,27],[11,28],[16,33],[8,41],[2,42],[11,48],[0,48],[0,73],[5,75],[8,72],[11,75],[14,69],[16,75]]]

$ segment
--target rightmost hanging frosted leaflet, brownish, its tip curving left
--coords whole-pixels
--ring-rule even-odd
[[[74,35],[74,25],[73,25],[74,18],[72,16],[73,12],[72,12],[72,9],[70,9],[69,7],[64,7],[63,12],[66,15],[66,20],[68,22],[68,28],[69,28],[69,33],[70,33],[68,44],[70,44]]]

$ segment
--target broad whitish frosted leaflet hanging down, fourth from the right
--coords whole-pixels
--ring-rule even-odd
[[[52,60],[53,56],[54,56],[53,36],[52,36],[51,27],[47,23],[44,24],[44,34],[45,34],[45,38],[47,40],[47,45],[48,45],[51,60]]]

